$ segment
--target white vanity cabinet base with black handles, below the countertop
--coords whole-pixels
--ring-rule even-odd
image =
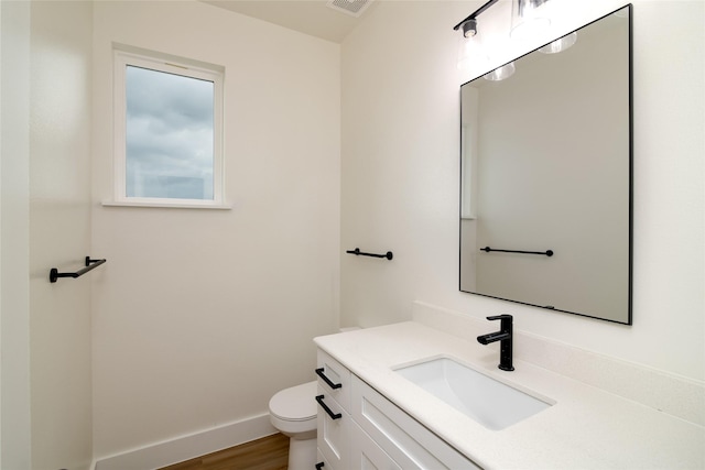
[[[318,371],[328,380],[335,378],[333,385],[341,385],[333,389],[319,374],[323,470],[479,469],[322,350]]]

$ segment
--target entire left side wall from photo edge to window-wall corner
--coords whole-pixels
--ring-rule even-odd
[[[2,460],[91,460],[88,2],[2,2]]]

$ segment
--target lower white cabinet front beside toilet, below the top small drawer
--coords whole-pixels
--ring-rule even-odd
[[[350,415],[318,383],[317,446],[326,461],[335,469],[346,469],[349,447]],[[328,408],[328,409],[326,409]]]

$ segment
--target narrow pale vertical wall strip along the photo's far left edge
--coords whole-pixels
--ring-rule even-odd
[[[0,2],[0,468],[31,464],[30,4]]]

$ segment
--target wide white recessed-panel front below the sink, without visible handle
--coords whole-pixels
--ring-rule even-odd
[[[352,418],[404,470],[479,469],[355,375],[351,390]]]

